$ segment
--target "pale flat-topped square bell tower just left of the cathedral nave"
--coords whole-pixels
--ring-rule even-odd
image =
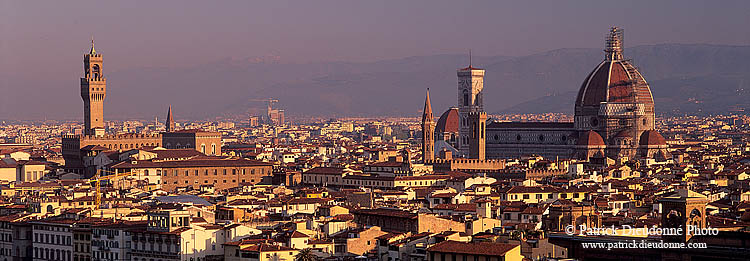
[[[484,103],[482,90],[484,89],[484,69],[475,68],[471,65],[471,54],[469,54],[469,67],[458,69],[458,116],[459,116],[459,139],[456,143],[461,154],[469,154],[471,137],[471,125],[469,113],[483,112]]]

